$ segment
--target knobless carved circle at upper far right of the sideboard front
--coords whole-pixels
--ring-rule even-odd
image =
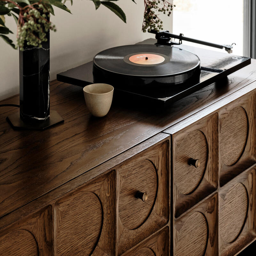
[[[246,145],[248,120],[244,108],[233,108],[220,124],[220,156],[225,165],[231,166],[239,160]]]

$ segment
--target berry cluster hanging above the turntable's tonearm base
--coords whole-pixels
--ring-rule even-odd
[[[160,31],[163,30],[163,21],[158,17],[158,15],[162,12],[167,14],[167,16],[171,15],[171,11],[175,4],[169,3],[166,0],[144,0],[145,11],[144,11],[144,20],[142,24],[142,31],[146,32],[151,31],[151,29]]]

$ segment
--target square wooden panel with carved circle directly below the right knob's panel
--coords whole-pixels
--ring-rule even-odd
[[[218,194],[174,220],[173,255],[218,255]]]

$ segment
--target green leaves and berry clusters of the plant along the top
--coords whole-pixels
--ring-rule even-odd
[[[50,14],[54,15],[53,6],[66,12],[70,10],[65,5],[67,0],[0,0],[0,37],[12,48],[23,50],[24,47],[42,47],[42,43],[47,41],[46,35],[49,30],[56,31],[55,25],[50,21]],[[119,0],[90,0],[97,10],[100,5],[107,7],[126,23],[124,11],[114,2]],[[73,0],[70,0],[71,5]],[[132,2],[135,3],[134,0]],[[166,0],[144,0],[145,11],[142,25],[143,32],[146,29],[163,29],[162,21],[156,11],[167,12],[170,16],[173,6]],[[162,7],[160,7],[162,5]],[[5,25],[5,15],[12,16],[17,23],[17,46],[7,36],[13,34]]]

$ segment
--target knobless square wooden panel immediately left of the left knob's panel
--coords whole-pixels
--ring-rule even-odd
[[[116,238],[115,191],[112,171],[54,204],[56,255],[111,255]]]

